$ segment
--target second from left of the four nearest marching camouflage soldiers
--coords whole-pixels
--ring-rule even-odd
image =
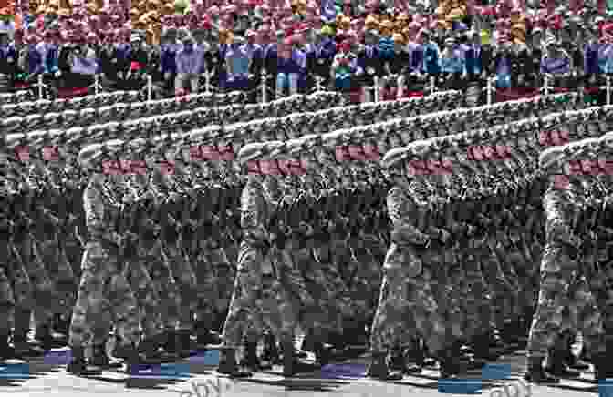
[[[257,151],[247,151],[245,155],[240,155],[243,161],[258,156]],[[272,247],[273,243],[281,243],[277,237],[285,237],[278,229],[283,226],[282,222],[277,221],[268,226],[275,227],[276,236],[265,226],[269,221],[275,220],[270,219],[269,214],[283,214],[275,212],[280,210],[275,209],[275,206],[283,204],[282,201],[277,201],[281,199],[281,192],[278,191],[275,178],[277,177],[250,176],[241,199],[244,239],[239,251],[234,293],[223,326],[222,357],[217,370],[234,377],[251,375],[251,372],[238,369],[235,358],[235,349],[244,336],[248,320],[254,320],[259,327],[267,323],[275,331],[284,350],[284,375],[292,376],[297,370],[293,346],[297,305],[292,292],[304,294],[306,290],[292,290],[296,286],[295,270],[292,269],[292,264],[287,263],[278,252],[275,253]],[[303,304],[308,303],[307,296],[297,298]]]

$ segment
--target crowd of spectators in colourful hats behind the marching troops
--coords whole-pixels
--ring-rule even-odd
[[[206,0],[8,4],[0,9],[0,90],[244,90],[258,100],[317,88],[381,95],[494,86],[516,93],[602,87],[613,70],[607,4],[451,0]],[[433,77],[433,79],[432,79]],[[265,80],[263,80],[265,78]]]

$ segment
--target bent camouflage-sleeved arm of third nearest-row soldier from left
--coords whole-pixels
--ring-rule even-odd
[[[409,199],[400,188],[392,188],[387,199],[388,216],[393,224],[391,240],[398,245],[425,244],[430,238],[410,223]]]

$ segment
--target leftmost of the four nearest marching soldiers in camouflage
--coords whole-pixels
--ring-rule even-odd
[[[79,154],[82,167],[93,173],[84,192],[84,208],[88,225],[88,243],[83,254],[83,272],[78,288],[77,304],[70,324],[69,345],[72,360],[68,372],[79,376],[99,374],[99,368],[85,360],[85,332],[112,321],[123,344],[120,358],[126,359],[128,373],[139,363],[139,313],[130,284],[119,269],[119,247],[122,236],[116,228],[120,211],[121,175],[105,175],[99,166],[104,145],[92,145]],[[117,170],[115,170],[117,172]],[[107,331],[108,333],[108,331]]]

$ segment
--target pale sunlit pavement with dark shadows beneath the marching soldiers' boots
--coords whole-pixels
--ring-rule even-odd
[[[105,372],[99,378],[83,379],[69,375],[62,365],[45,361],[34,361],[29,364],[27,379],[0,380],[0,396],[175,396],[175,397],[387,397],[387,396],[423,396],[441,395],[438,390],[438,375],[436,371],[426,370],[420,376],[405,377],[401,382],[378,382],[365,379],[363,372],[369,359],[362,356],[355,360],[331,365],[321,372],[300,375],[291,380],[285,380],[281,368],[275,367],[271,372],[257,373],[254,378],[232,382],[227,378],[218,377],[214,365],[207,355],[192,358],[182,362],[189,365],[189,379],[182,381],[132,379],[125,382],[126,376],[119,372]],[[510,379],[504,381],[483,381],[481,394],[491,397],[522,397],[510,386],[509,394],[504,392],[504,384],[519,384],[521,372],[524,371],[524,358],[521,351],[504,356],[497,361],[496,367],[503,364],[511,370]],[[2,367],[0,367],[2,368]],[[15,370],[14,367],[10,367]],[[16,372],[16,371],[15,371]],[[556,387],[532,386],[532,396],[594,396],[598,387],[589,380],[591,373],[582,374],[578,381],[565,381]],[[470,384],[478,384],[480,372],[472,372],[466,376],[472,380]],[[467,384],[469,384],[467,383]],[[194,392],[194,388],[198,393]],[[520,387],[521,388],[521,387]],[[523,389],[523,388],[522,388]],[[496,390],[497,392],[493,392]],[[467,392],[445,393],[447,396],[467,395]],[[600,393],[604,397],[604,393]]]

